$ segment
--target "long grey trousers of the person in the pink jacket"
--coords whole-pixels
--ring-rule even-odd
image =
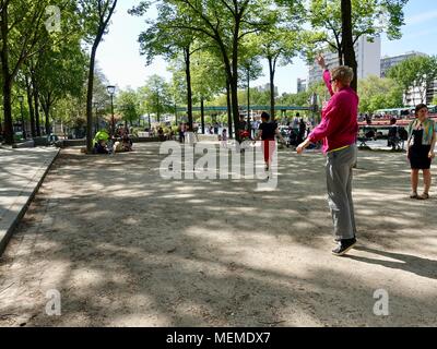
[[[355,144],[327,155],[328,204],[338,239],[352,239],[356,236],[352,201],[352,168],[356,157]]]

